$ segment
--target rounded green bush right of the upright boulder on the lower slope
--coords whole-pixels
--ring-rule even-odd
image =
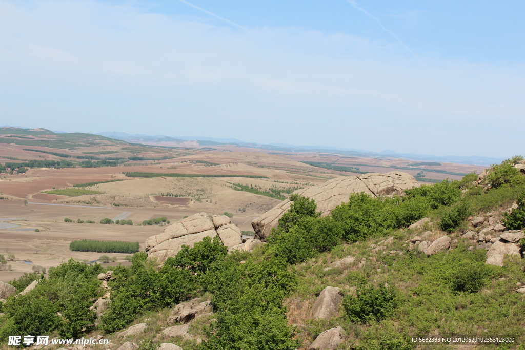
[[[346,295],[343,307],[351,322],[370,323],[390,317],[396,311],[400,301],[393,287],[360,284],[357,296]]]

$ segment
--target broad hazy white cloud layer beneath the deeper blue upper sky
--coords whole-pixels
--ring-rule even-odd
[[[343,33],[239,30],[88,0],[23,4],[0,0],[3,124],[520,152],[523,67],[416,60]]]

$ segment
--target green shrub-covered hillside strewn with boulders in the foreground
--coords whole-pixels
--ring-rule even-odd
[[[510,337],[475,348],[523,348],[521,161],[402,197],[353,194],[328,217],[293,195],[253,252],[228,254],[208,238],[162,266],[138,252],[112,271],[70,260],[48,278],[25,275],[11,283],[17,295],[0,286],[0,342],[48,334],[106,337],[121,350],[462,348],[411,342],[439,334]],[[486,263],[498,254],[503,266]]]

